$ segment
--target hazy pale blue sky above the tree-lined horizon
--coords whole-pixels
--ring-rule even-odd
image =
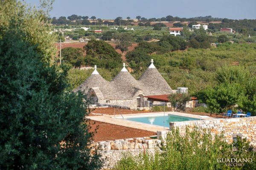
[[[38,6],[39,0],[25,0]],[[160,18],[208,16],[229,19],[256,19],[256,0],[55,0],[51,17],[96,16]]]

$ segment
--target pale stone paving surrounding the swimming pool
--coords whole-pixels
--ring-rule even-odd
[[[165,115],[177,115],[177,116],[185,116],[185,117],[192,117],[200,119],[199,115],[195,114],[189,114],[189,113],[180,113],[180,112],[165,112]],[[130,120],[124,120],[124,118],[131,118],[131,117],[147,117],[147,116],[163,116],[164,112],[153,112],[153,113],[135,113],[135,114],[116,114],[116,115],[102,115],[102,116],[87,116],[87,119],[99,121],[99,122],[105,122],[110,123],[114,125],[120,125],[120,126],[126,126],[126,127],[132,127],[137,128],[141,130],[148,130],[151,132],[157,132],[162,130],[168,130],[168,127],[158,126],[158,125],[150,125],[147,123],[141,123],[141,122],[134,122]],[[121,118],[121,119],[120,119]],[[212,117],[204,118],[204,119],[215,119]]]

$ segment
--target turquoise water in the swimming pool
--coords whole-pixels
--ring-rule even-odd
[[[163,119],[163,116],[151,116],[151,117],[134,117],[134,118],[125,118],[126,120],[131,120],[135,122],[148,123],[151,125],[163,125],[163,120],[165,120],[165,127],[169,127],[169,122],[183,122],[189,120],[200,120],[192,117],[177,116],[177,115],[166,115]]]

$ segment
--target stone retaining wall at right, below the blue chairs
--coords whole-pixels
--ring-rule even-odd
[[[212,135],[220,134],[224,131],[227,142],[233,142],[233,138],[241,136],[250,141],[256,147],[256,116],[247,118],[232,118],[232,119],[212,119],[212,120],[197,120],[186,122],[170,122],[170,128],[179,127],[180,133],[185,133],[186,126],[193,128],[209,128]]]

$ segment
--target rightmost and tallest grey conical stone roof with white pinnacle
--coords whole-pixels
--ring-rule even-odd
[[[171,87],[157,71],[157,68],[155,68],[153,62],[153,59],[151,59],[151,65],[139,79],[140,83],[143,84],[144,95],[171,94]]]

